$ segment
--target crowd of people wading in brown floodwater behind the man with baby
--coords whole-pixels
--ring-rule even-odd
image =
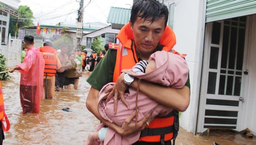
[[[63,89],[78,89],[79,78],[83,71],[91,73],[106,54],[95,51],[87,56],[87,51],[74,49],[68,52],[67,45],[61,45],[58,51],[51,42],[45,42],[43,47],[34,46],[31,35],[24,37],[24,49],[21,63],[11,67],[9,72],[18,70],[20,78],[20,101],[22,113],[40,112],[42,99],[53,99],[55,91]],[[108,47],[108,45],[105,45]]]

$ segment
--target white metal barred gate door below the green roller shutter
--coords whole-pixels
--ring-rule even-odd
[[[241,121],[245,26],[245,16],[206,25],[197,132]]]

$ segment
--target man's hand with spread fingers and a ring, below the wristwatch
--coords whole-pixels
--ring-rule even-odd
[[[106,103],[108,103],[108,101],[113,98],[114,96],[114,113],[117,113],[117,99],[118,96],[120,96],[122,102],[127,106],[128,109],[130,109],[129,104],[126,102],[125,98],[124,98],[124,91],[126,90],[126,88],[128,87],[125,83],[124,83],[124,74],[122,73],[119,78],[117,79],[117,82],[115,83],[115,85],[112,88],[109,88],[108,90],[106,90],[106,93],[110,92],[108,94],[108,98],[106,99]]]

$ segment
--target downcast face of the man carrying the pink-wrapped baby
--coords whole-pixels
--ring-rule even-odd
[[[153,23],[145,18],[137,17],[134,25],[130,21],[134,33],[134,42],[140,54],[151,54],[165,30],[165,18],[162,17]]]

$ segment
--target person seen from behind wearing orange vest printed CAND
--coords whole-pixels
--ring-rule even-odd
[[[43,98],[53,99],[55,94],[55,76],[56,70],[61,67],[59,58],[56,56],[57,51],[52,47],[51,42],[45,42],[40,52],[45,59]]]

